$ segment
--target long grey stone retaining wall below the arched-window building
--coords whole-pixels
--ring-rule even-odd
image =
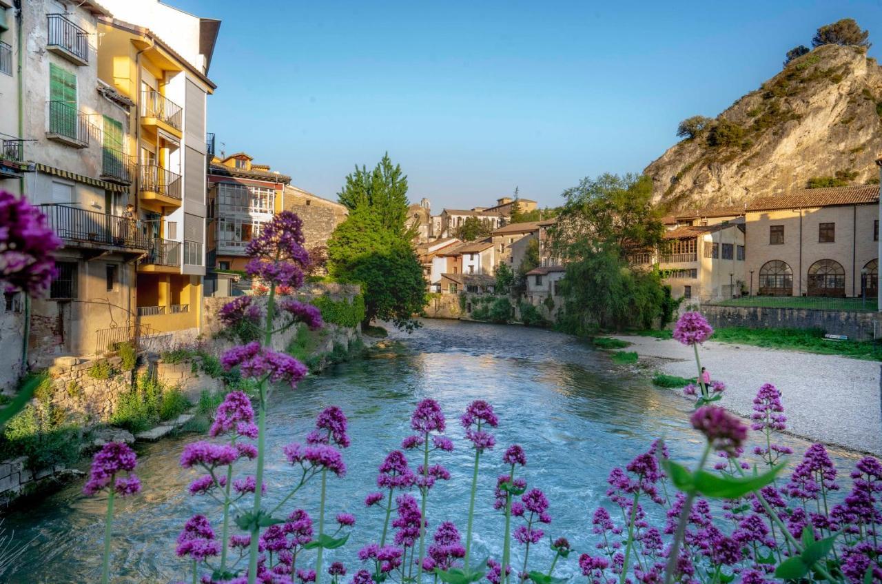
[[[701,312],[712,326],[748,328],[820,328],[828,334],[844,334],[855,341],[882,337],[882,314],[856,311],[815,311],[794,308],[713,306]]]

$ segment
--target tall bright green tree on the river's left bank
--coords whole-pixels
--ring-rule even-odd
[[[389,320],[412,330],[425,303],[422,266],[407,228],[407,176],[386,153],[368,172],[355,168],[339,193],[349,208],[328,241],[328,270],[339,281],[363,287],[365,322]]]

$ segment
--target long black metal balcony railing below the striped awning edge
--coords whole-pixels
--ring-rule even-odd
[[[71,242],[93,243],[137,250],[150,249],[138,231],[138,222],[118,215],[87,211],[69,205],[40,205],[49,227]]]

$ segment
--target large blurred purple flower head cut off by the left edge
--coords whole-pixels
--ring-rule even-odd
[[[42,296],[56,277],[53,252],[61,247],[37,207],[0,191],[0,283],[5,291]]]

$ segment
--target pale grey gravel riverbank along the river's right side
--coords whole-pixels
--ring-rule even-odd
[[[617,335],[632,343],[624,350],[654,357],[657,369],[692,378],[690,347],[670,339]],[[708,341],[699,348],[701,364],[726,383],[721,405],[749,416],[759,386],[781,390],[788,430],[797,436],[882,455],[880,365],[848,357]],[[672,390],[679,391],[679,390]]]

